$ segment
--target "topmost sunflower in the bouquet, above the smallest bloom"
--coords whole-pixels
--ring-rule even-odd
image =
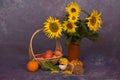
[[[81,8],[79,4],[77,4],[76,2],[70,2],[66,7],[66,12],[68,12],[69,14],[79,15],[80,11],[81,11]]]

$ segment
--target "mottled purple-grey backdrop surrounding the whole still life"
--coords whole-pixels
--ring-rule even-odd
[[[88,12],[91,12],[92,9],[102,12],[103,24],[99,30],[100,41],[93,43],[88,39],[83,39],[81,43],[80,57],[86,66],[86,75],[82,78],[85,80],[87,78],[88,80],[120,79],[120,0],[0,0],[1,80],[17,79],[16,76],[20,74],[24,74],[21,77],[25,80],[33,79],[26,77],[31,74],[28,74],[25,69],[30,37],[35,30],[43,27],[48,16],[62,19],[65,15],[65,6],[70,1],[78,2],[81,8]],[[84,15],[81,17],[84,18]],[[64,38],[61,39],[61,44],[63,54],[67,56]],[[39,34],[35,37],[33,46],[36,52],[43,52],[46,49],[54,49],[55,41],[47,40],[44,34]],[[98,68],[101,65],[102,69]],[[108,70],[104,71],[106,69]],[[8,76],[11,70],[16,72],[19,70],[20,73],[16,76],[11,73]],[[38,74],[36,73],[37,77]],[[36,78],[35,75],[34,78]],[[44,79],[46,78],[44,77]],[[77,79],[81,79],[81,77]]]

